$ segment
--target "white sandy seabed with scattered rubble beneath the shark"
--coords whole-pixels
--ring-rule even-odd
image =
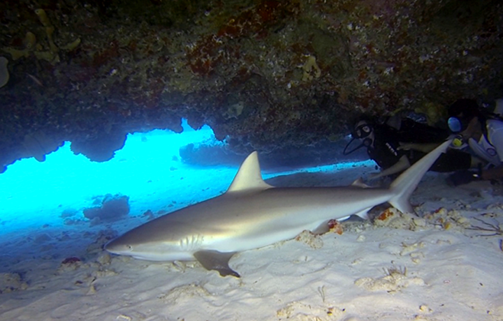
[[[316,175],[272,184],[313,186]],[[323,185],[355,175],[330,173]],[[17,262],[1,274],[0,320],[501,321],[500,188],[444,179],[425,175],[411,200],[418,217],[376,211],[374,223],[238,253],[230,266],[241,278],[103,251],[66,264]]]

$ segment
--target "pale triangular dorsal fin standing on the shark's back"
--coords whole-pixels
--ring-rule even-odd
[[[249,154],[241,164],[238,174],[233,179],[228,192],[265,190],[271,188],[269,184],[262,179],[260,164],[258,163],[258,154],[256,151]]]

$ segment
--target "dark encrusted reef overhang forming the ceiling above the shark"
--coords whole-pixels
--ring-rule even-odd
[[[182,117],[271,152],[361,112],[433,124],[456,98],[503,96],[497,0],[6,0],[0,20],[0,165],[64,140],[107,160]]]

